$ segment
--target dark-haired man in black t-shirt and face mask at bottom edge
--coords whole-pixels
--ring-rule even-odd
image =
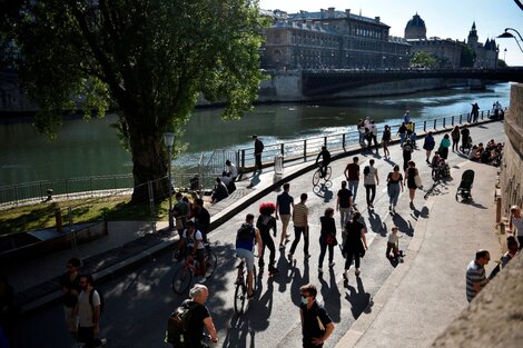
[[[333,320],[325,308],[316,300],[317,294],[316,286],[312,284],[299,288],[299,295],[302,296],[299,318],[304,348],[322,348],[334,331]]]

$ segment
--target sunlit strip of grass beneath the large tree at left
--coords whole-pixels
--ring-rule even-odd
[[[155,220],[167,220],[168,206],[167,200],[155,205]],[[149,203],[131,205],[130,196],[97,197],[41,202],[1,210],[0,235],[56,227],[57,210],[61,212],[62,225],[68,225],[69,207],[73,223],[97,221],[103,218],[109,221],[150,220]]]

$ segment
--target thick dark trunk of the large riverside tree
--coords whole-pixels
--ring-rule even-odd
[[[169,189],[171,189],[168,178],[168,159],[161,146],[162,136],[140,129],[130,130],[130,137],[135,179],[131,201],[142,203],[152,198],[155,203],[159,203],[169,197]],[[149,197],[149,181],[152,185],[154,197]]]

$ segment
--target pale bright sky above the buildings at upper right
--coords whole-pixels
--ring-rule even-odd
[[[495,38],[500,47],[499,57],[505,57],[509,66],[523,66],[523,52],[515,40],[496,38],[505,28],[513,28],[523,36],[523,10],[514,0],[259,0],[259,7],[289,13],[299,10],[315,12],[327,8],[339,11],[351,9],[355,14],[379,17],[382,22],[391,27],[389,34],[395,37],[404,36],[406,23],[417,12],[425,21],[428,38],[461,41],[466,39],[475,21],[480,42]],[[523,42],[520,44],[523,48]]]

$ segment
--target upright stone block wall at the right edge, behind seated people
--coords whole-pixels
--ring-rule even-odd
[[[509,216],[512,205],[523,206],[523,84],[511,88],[510,112],[505,117],[504,160],[500,177],[502,213]]]

